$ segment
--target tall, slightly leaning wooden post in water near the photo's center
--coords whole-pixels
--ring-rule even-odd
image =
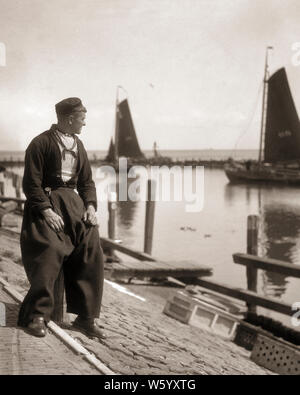
[[[154,180],[148,180],[144,252],[149,255],[151,255],[151,253],[152,253],[154,212],[155,212],[155,194],[156,194],[156,183]]]

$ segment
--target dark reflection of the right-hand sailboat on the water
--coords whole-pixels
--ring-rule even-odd
[[[300,192],[297,188],[274,187],[268,185],[225,186],[225,200],[236,204],[244,199],[248,206],[256,206],[260,217],[260,256],[285,262],[299,262],[297,242],[300,235]],[[262,289],[266,296],[281,298],[287,290],[287,276],[262,271]]]

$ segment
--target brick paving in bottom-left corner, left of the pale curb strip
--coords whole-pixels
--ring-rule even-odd
[[[54,335],[39,339],[16,327],[18,305],[0,286],[6,326],[0,327],[0,375],[99,374]]]

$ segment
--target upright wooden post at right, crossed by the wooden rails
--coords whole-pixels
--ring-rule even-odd
[[[257,215],[249,215],[247,218],[247,254],[257,255],[258,253],[258,221]],[[247,266],[247,286],[248,290],[257,292],[257,269]],[[257,312],[257,307],[253,304],[248,304],[248,311],[251,313]]]

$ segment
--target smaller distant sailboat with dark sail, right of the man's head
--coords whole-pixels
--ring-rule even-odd
[[[114,164],[118,168],[119,158],[125,157],[128,165],[140,162],[145,159],[145,155],[140,149],[133,124],[128,99],[119,100],[119,90],[117,87],[116,115],[115,115],[115,135],[110,141],[106,162]]]

